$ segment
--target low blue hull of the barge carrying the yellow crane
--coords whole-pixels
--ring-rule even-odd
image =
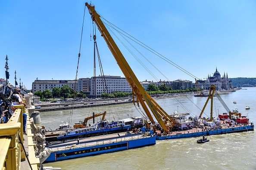
[[[190,131],[180,131],[177,133],[169,133],[169,134],[157,134],[157,140],[169,140],[169,139],[180,139],[180,138],[187,138],[187,137],[201,137],[203,135],[217,135],[217,134],[230,134],[236,132],[245,132],[245,131],[254,131],[254,124],[245,124],[245,125],[237,125],[235,127],[222,127],[217,128],[209,131],[197,131],[190,130]]]

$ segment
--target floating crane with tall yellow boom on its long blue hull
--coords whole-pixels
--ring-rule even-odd
[[[249,123],[249,119],[247,119],[246,123],[233,123],[232,127],[225,127],[225,125],[221,126],[223,123],[220,120],[216,120],[218,122],[212,122],[212,105],[213,105],[213,97],[217,96],[222,105],[225,107],[225,109],[229,112],[230,119],[231,115],[237,115],[234,112],[231,112],[228,109],[228,106],[224,103],[224,101],[221,99],[218,93],[216,95],[214,94],[215,91],[215,85],[211,85],[208,98],[206,100],[205,106],[202,109],[202,112],[199,116],[198,121],[203,122],[201,119],[201,116],[203,114],[204,109],[206,108],[206,105],[208,101],[211,99],[211,116],[210,119],[207,119],[204,121],[204,126],[200,125],[200,127],[203,127],[204,129],[200,131],[200,129],[193,129],[194,125],[187,124],[189,129],[191,131],[181,131],[178,133],[173,132],[174,129],[177,129],[178,127],[183,130],[183,127],[180,127],[179,122],[175,121],[173,117],[171,117],[169,114],[165,112],[164,109],[162,109],[161,106],[159,106],[158,103],[156,103],[155,100],[153,100],[152,97],[150,97],[149,94],[144,90],[142,85],[140,84],[139,80],[135,76],[133,70],[131,70],[131,67],[129,66],[128,62],[125,60],[125,57],[123,56],[122,52],[116,45],[115,41],[112,39],[112,36],[110,35],[109,31],[106,29],[103,21],[101,20],[101,16],[95,11],[95,6],[85,3],[85,5],[88,8],[88,11],[91,15],[92,21],[97,25],[101,36],[106,41],[106,44],[108,45],[110,51],[112,52],[113,57],[116,59],[117,64],[119,65],[120,69],[122,70],[123,74],[125,75],[125,78],[127,79],[129,85],[132,88],[132,95],[133,95],[133,103],[134,105],[137,105],[138,107],[142,106],[144,109],[144,112],[146,113],[147,117],[149,118],[152,126],[147,126],[147,129],[152,128],[154,134],[156,135],[156,138],[158,140],[164,140],[164,139],[177,139],[177,138],[183,138],[183,137],[198,137],[202,135],[210,135],[210,134],[223,134],[223,133],[231,133],[231,132],[240,132],[240,131],[253,131],[254,125],[253,122]],[[96,35],[95,39],[96,40]],[[137,103],[135,102],[134,98],[137,98]],[[140,106],[139,106],[140,103]],[[147,107],[148,106],[148,107]],[[156,121],[153,119],[153,116],[155,117]],[[239,116],[239,115],[238,115]],[[240,117],[238,117],[240,118]],[[159,124],[159,129],[161,131],[157,131],[156,129],[156,122]],[[207,122],[207,123],[206,123]],[[212,123],[210,123],[212,122]],[[198,124],[195,125],[195,127]],[[229,124],[230,125],[230,124]],[[192,129],[191,129],[192,127]],[[216,129],[215,129],[216,128]],[[194,130],[194,131],[193,131]],[[145,130],[146,131],[146,130]],[[186,132],[186,133],[185,133]],[[173,134],[175,133],[175,134]],[[164,137],[162,137],[162,135]]]

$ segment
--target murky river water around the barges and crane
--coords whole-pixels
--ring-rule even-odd
[[[236,92],[219,93],[230,110],[237,108],[242,115],[256,122],[256,88],[244,88]],[[213,116],[227,112],[214,97]],[[200,115],[207,97],[192,94],[172,98],[157,98],[156,102],[169,114],[174,111]],[[233,103],[236,100],[237,103]],[[203,116],[209,117],[210,103]],[[250,106],[249,110],[245,106]],[[185,109],[184,109],[185,107]],[[131,116],[141,116],[133,103],[115,106],[42,112],[41,121],[47,130],[56,129],[61,121],[72,115],[72,124],[83,121],[91,112],[107,112],[110,121]],[[97,120],[97,118],[96,118]],[[102,155],[57,161],[44,166],[62,170],[256,170],[256,135],[254,131],[213,135],[208,143],[198,144],[197,138],[156,141],[156,145]]]

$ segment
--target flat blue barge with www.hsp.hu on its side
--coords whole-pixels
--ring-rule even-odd
[[[140,133],[118,133],[70,140],[65,143],[51,144],[49,146],[51,154],[45,162],[61,161],[154,144],[156,144],[155,135],[146,136]]]

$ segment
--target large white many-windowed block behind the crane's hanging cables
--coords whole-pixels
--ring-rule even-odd
[[[105,79],[104,79],[105,78]],[[97,76],[91,77],[91,94],[92,96],[100,97],[102,93],[108,92],[108,94],[116,92],[131,93],[132,89],[125,77],[121,76]],[[94,88],[95,91],[94,91]]]

